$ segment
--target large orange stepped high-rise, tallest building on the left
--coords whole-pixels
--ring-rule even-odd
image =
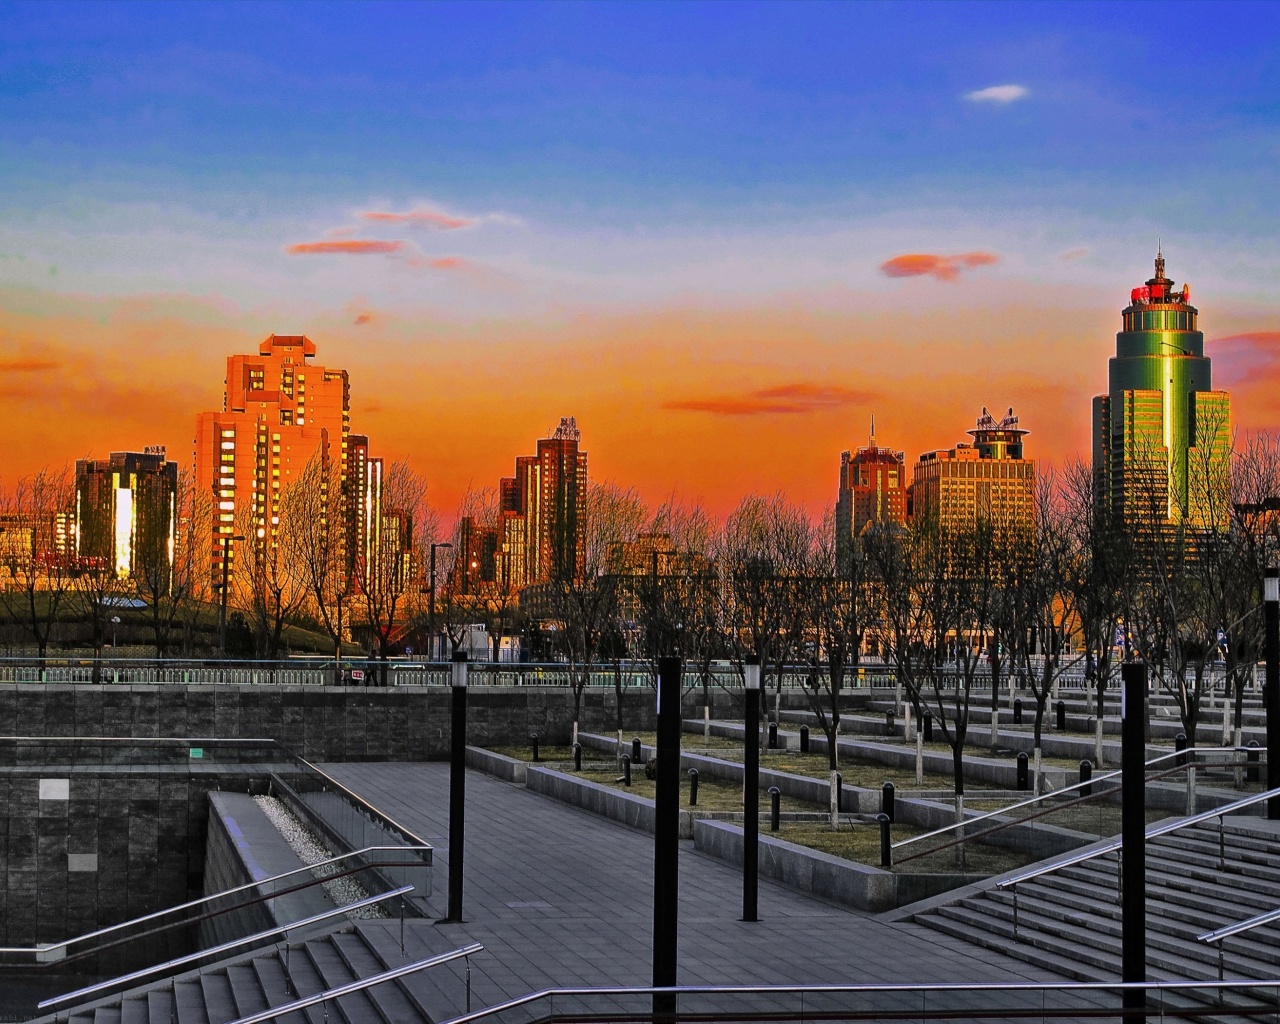
[[[280,494],[323,452],[335,465],[344,494],[351,431],[346,370],[311,362],[315,342],[271,334],[256,356],[227,360],[220,412],[202,412],[196,426],[196,486],[212,494],[210,556],[221,575],[223,536],[237,531],[274,544]],[[228,549],[234,557],[233,548]]]

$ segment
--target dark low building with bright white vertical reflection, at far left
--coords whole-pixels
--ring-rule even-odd
[[[116,579],[168,588],[178,493],[178,463],[164,448],[111,452],[76,463],[76,561]]]

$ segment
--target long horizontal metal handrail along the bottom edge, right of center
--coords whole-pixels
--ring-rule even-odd
[[[884,993],[931,993],[931,992],[1180,992],[1180,991],[1252,991],[1252,989],[1275,989],[1280,987],[1280,979],[1275,980],[1256,980],[1256,979],[1240,979],[1233,982],[980,982],[977,984],[964,983],[964,982],[950,982],[950,983],[937,983],[937,984],[812,984],[812,986],[671,986],[668,988],[544,988],[539,992],[530,992],[527,996],[520,996],[513,1000],[507,1000],[506,1002],[494,1004],[493,1006],[486,1006],[483,1010],[476,1010],[474,1012],[463,1014],[462,1016],[452,1018],[451,1020],[443,1021],[443,1024],[475,1024],[475,1021],[484,1020],[486,1018],[498,1016],[506,1014],[511,1010],[518,1010],[524,1006],[529,1006],[532,1002],[540,1000],[554,1000],[554,998],[570,998],[570,1000],[585,1000],[591,997],[617,997],[617,996],[874,996]],[[1225,1012],[1239,1014],[1240,1007],[1225,1007]],[[977,1018],[980,1014],[975,1010],[966,1009],[961,1014],[956,1011],[947,1010],[947,1012],[964,1016],[964,1018]],[[1117,1010],[1112,1007],[1106,1007],[1107,1016],[1116,1016]],[[1140,1010],[1133,1011],[1135,1014],[1142,1014],[1146,1016],[1149,1011]],[[1212,1007],[1197,1009],[1196,1014],[1199,1016],[1212,1014]],[[886,1016],[886,1011],[882,1007],[868,1006],[868,1015],[874,1015],[877,1018]],[[1007,1015],[1007,1014],[1006,1014]],[[1036,1016],[1050,1016],[1051,1014],[1044,1010],[1044,1007],[1036,1009]],[[1061,1015],[1066,1016],[1080,1016],[1082,1007],[1064,1007]],[[756,1018],[753,1014],[751,1018]],[[918,1014],[915,1016],[919,1016]],[[698,1014],[699,1020],[708,1020],[710,1018],[707,1012]],[[730,1018],[732,1020],[741,1020],[742,1011],[736,1010]],[[763,1016],[762,1019],[768,1019]],[[815,1015],[806,1015],[805,1019],[817,1019]],[[237,1023],[239,1024],[239,1023]]]

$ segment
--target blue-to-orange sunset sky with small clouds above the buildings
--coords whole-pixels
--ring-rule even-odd
[[[818,515],[872,415],[914,458],[1012,406],[1088,461],[1161,242],[1280,426],[1280,15],[1000,10],[8,5],[0,393],[40,428],[0,479],[188,465],[273,333],[445,512],[563,415],[594,479],[718,515]]]

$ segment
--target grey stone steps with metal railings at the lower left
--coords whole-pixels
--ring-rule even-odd
[[[227,1024],[227,1021],[444,952],[425,922],[361,922],[198,972],[63,1010],[59,1024]],[[458,961],[461,964],[461,961]],[[421,972],[278,1018],[282,1024],[431,1024],[461,1012],[454,965]],[[460,968],[461,969],[461,968]],[[431,977],[431,975],[436,977]]]

